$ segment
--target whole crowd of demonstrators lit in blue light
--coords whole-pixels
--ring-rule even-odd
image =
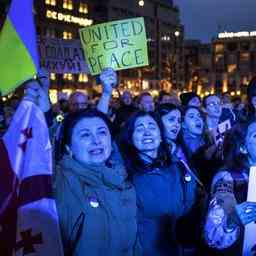
[[[100,80],[97,102],[75,92],[55,106],[47,72],[26,83],[24,99],[45,113],[51,134],[65,254],[242,255],[244,227],[256,221],[247,202],[256,79],[246,102],[163,91],[157,99],[124,91],[117,102],[116,72]],[[16,107],[2,106],[3,133]]]

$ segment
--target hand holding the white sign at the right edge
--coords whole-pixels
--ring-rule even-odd
[[[236,205],[236,213],[243,225],[256,221],[256,203],[243,202]]]

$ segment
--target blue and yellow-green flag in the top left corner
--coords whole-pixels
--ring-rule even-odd
[[[38,67],[33,0],[12,0],[0,32],[0,92],[2,95],[31,79]]]

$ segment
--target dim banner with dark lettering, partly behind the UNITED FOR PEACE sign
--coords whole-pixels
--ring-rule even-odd
[[[39,39],[40,66],[49,72],[64,74],[89,73],[80,40]]]

